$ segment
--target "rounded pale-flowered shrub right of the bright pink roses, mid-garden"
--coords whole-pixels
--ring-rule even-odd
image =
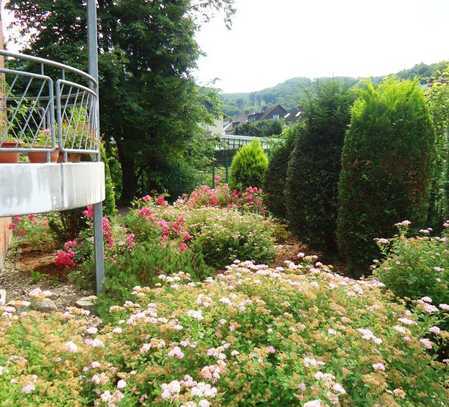
[[[192,250],[216,269],[234,260],[267,263],[274,259],[274,228],[260,215],[199,209],[186,221],[191,225]]]

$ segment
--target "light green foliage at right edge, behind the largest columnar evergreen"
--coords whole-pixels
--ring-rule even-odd
[[[428,224],[437,229],[449,217],[449,68],[436,74],[427,102],[436,135]]]

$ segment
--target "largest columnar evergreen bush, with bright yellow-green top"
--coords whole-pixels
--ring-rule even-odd
[[[435,133],[414,81],[385,80],[360,90],[352,108],[339,184],[338,245],[348,273],[361,276],[404,219],[427,221]]]

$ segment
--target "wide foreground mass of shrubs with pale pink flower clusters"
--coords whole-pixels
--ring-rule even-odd
[[[106,326],[79,309],[44,316],[2,307],[0,400],[52,407],[449,403],[447,366],[428,353],[448,335],[435,329],[444,313],[410,312],[375,280],[355,282],[307,262],[277,269],[236,262],[204,283],[183,273],[159,280],[111,307]]]

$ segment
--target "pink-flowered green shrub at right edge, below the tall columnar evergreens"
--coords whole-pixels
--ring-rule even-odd
[[[449,304],[447,238],[447,233],[441,238],[407,238],[407,228],[401,226],[400,233],[388,243],[379,241],[386,258],[374,267],[375,276],[398,297],[430,297],[437,306]]]

